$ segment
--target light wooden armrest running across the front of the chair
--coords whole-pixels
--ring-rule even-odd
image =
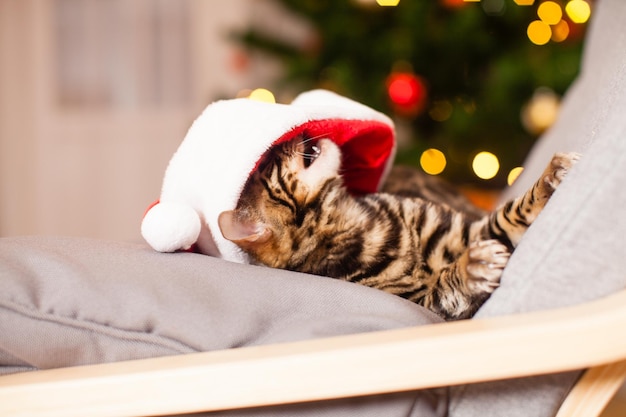
[[[626,290],[514,316],[13,374],[0,377],[0,415],[162,415],[583,369],[626,359],[624,328]]]

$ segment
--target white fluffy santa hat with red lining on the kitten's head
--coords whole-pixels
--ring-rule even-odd
[[[378,190],[395,152],[393,123],[387,116],[329,91],[303,93],[289,105],[217,101],[194,121],[172,156],[161,196],[143,218],[142,236],[159,252],[193,247],[247,262],[222,237],[218,216],[235,208],[261,156],[300,134],[340,146],[345,184],[354,194]]]

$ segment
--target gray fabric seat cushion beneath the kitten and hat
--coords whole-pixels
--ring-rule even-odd
[[[88,239],[0,239],[0,277],[0,374],[441,321],[352,283]],[[446,401],[442,390],[228,415],[435,416]]]

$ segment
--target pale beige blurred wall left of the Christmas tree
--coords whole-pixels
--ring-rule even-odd
[[[194,118],[276,72],[228,40],[266,9],[0,0],[0,235],[139,240]]]

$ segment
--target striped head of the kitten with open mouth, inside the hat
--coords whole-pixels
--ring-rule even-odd
[[[342,184],[340,166],[339,147],[329,139],[298,137],[274,146],[244,186],[236,209],[220,214],[222,235],[254,260],[285,267],[294,245],[313,230],[316,205]]]

